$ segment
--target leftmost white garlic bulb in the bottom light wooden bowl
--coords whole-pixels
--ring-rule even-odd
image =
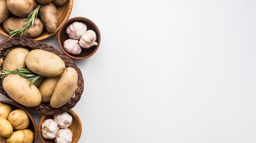
[[[42,135],[45,139],[54,139],[59,129],[58,124],[53,119],[46,119],[42,123]]]

